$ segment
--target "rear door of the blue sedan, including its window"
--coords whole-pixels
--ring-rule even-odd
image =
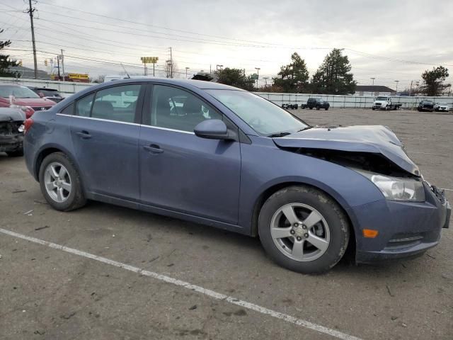
[[[138,113],[143,91],[141,84],[112,86],[76,101],[71,139],[92,193],[139,200]]]

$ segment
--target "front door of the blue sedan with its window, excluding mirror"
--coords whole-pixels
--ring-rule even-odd
[[[142,202],[236,224],[240,143],[207,140],[193,132],[207,119],[236,126],[190,91],[164,85],[152,88],[144,101],[139,140]]]

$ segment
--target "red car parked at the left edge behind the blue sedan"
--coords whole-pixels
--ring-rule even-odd
[[[27,118],[35,111],[48,110],[55,101],[41,98],[26,86],[0,84],[0,108],[20,108]]]

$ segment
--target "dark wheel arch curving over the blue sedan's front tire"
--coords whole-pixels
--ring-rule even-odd
[[[345,200],[341,198],[341,196],[338,195],[338,193],[336,193],[336,191],[333,191],[333,189],[328,188],[327,186],[319,185],[318,183],[309,183],[308,181],[282,181],[280,183],[274,183],[273,185],[268,186],[268,188],[265,188],[265,190],[260,194],[260,196],[258,196],[255,204],[253,205],[251,220],[251,236],[252,237],[258,236],[258,217],[260,215],[261,208],[263,208],[265,201],[277,191],[281,190],[282,188],[287,188],[289,186],[309,186],[326,194],[340,206],[341,210],[343,210],[345,216],[348,218],[349,225],[352,228],[350,232],[348,250],[346,251],[346,253],[348,254],[352,252],[352,254],[354,254],[356,246],[355,239],[356,228],[353,221],[355,219],[352,216],[350,216],[350,209],[348,209],[349,208],[348,204],[345,202]]]

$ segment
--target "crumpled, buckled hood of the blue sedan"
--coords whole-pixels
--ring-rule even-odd
[[[420,176],[418,166],[408,157],[403,144],[389,128],[382,125],[314,127],[273,138],[282,148],[330,149],[346,152],[382,154],[401,169]]]

